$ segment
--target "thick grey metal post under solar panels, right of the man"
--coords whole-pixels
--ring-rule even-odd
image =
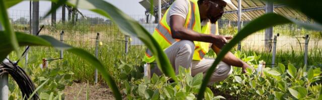
[[[274,10],[273,2],[267,0],[266,7],[265,7],[266,13],[271,13],[271,12],[273,12],[273,10]],[[266,48],[266,51],[271,50],[271,46],[272,46],[271,42],[272,41],[268,40],[268,39],[272,39],[272,37],[273,37],[273,27],[266,28],[266,30],[265,30],[265,40],[266,40],[265,41],[265,48]]]

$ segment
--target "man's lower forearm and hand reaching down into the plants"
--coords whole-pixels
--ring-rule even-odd
[[[211,45],[211,48],[215,51],[215,53],[218,55],[220,50],[216,45]],[[243,72],[247,72],[246,67],[252,68],[250,65],[248,65],[246,62],[243,60],[237,58],[235,55],[233,55],[230,51],[226,53],[224,58],[222,59],[223,62],[227,63],[228,65],[232,66],[238,66],[243,68]]]

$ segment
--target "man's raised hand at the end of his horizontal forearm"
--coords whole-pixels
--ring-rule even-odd
[[[215,44],[218,48],[222,48],[223,45],[227,43],[227,40],[231,39],[232,36],[223,36],[223,35],[215,35],[213,40],[213,44]]]

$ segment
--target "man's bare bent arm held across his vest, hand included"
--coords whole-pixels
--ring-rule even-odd
[[[227,39],[232,38],[231,36],[198,33],[192,29],[184,27],[184,24],[185,19],[182,16],[170,16],[170,27],[173,38],[210,42],[214,43],[219,48],[221,48],[227,42]]]

